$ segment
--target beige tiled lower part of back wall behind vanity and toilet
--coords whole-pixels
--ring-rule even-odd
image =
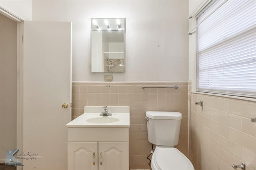
[[[180,88],[145,88],[172,86]],[[129,162],[131,169],[150,169],[146,111],[182,113],[180,141],[176,146],[188,156],[188,82],[72,82],[72,119],[84,106],[130,106]]]

